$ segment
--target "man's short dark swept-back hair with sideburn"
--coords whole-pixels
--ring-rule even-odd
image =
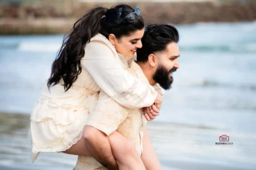
[[[179,32],[168,24],[150,24],[141,39],[142,48],[137,49],[137,61],[147,62],[148,55],[166,50],[169,43],[179,41]]]

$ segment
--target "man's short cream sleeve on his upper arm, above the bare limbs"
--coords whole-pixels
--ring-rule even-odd
[[[104,91],[100,91],[99,100],[90,113],[86,125],[91,125],[109,136],[118,129],[128,115],[128,108],[116,103]]]

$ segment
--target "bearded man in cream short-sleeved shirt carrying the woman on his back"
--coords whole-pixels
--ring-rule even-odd
[[[179,33],[172,25],[148,25],[141,39],[143,47],[137,50],[137,61],[127,60],[122,56],[120,59],[124,66],[127,67],[127,71],[139,80],[154,86],[159,92],[161,89],[157,87],[157,83],[163,89],[168,90],[173,82],[172,73],[179,68],[177,60],[180,56],[178,41]],[[147,116],[145,114],[145,117]],[[149,115],[148,117],[155,116]],[[97,160],[113,162],[113,155],[106,155],[107,152],[102,152],[102,149],[104,148],[103,145],[108,142],[107,136],[115,131],[131,140],[132,146],[137,151],[134,154],[141,157],[142,166],[135,167],[135,169],[162,169],[145,128],[147,124],[145,117],[143,117],[141,110],[125,108],[113,101],[103,91],[100,92],[99,100],[86,125],[86,128],[90,129],[90,133],[85,136],[88,150],[95,159],[93,157],[79,156],[75,169],[106,169]],[[111,143],[111,141],[109,142]],[[125,155],[120,155],[120,157],[122,156],[125,157]],[[118,160],[116,161],[118,163]],[[127,162],[132,161],[134,160],[127,160]],[[129,166],[132,165],[119,168],[133,168]]]

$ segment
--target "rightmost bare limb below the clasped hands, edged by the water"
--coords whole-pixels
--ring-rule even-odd
[[[143,153],[142,153],[142,161],[147,170],[162,170],[160,161],[157,158],[154,147],[150,141],[147,129],[144,130],[143,135]]]

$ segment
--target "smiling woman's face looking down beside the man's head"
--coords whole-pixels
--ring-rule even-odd
[[[129,36],[122,36],[119,39],[116,39],[115,35],[112,34],[113,37],[109,36],[109,41],[115,46],[116,52],[126,57],[133,57],[136,50],[142,47],[141,38],[143,34],[144,29],[134,31]]]

